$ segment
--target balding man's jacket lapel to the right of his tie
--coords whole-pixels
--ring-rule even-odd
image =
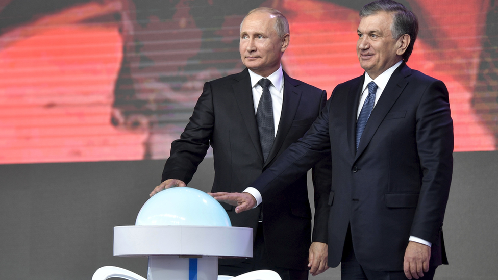
[[[280,115],[279,129],[277,130],[277,136],[275,137],[275,141],[273,141],[273,146],[271,147],[265,166],[277,156],[282,147],[292,122],[294,121],[297,107],[299,106],[299,101],[301,99],[302,91],[296,88],[300,82],[290,78],[285,72],[283,79],[284,96],[282,100],[282,113]]]

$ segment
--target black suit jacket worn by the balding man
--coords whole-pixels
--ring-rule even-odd
[[[211,144],[214,156],[213,192],[242,192],[293,142],[310,128],[325,106],[325,91],[290,78],[284,72],[282,114],[275,142],[263,160],[248,70],[204,85],[185,131],[171,144],[162,180],[188,183]],[[328,163],[328,164],[327,164]],[[317,206],[314,241],[327,241],[330,158],[313,171]],[[263,206],[263,232],[273,265],[307,269],[311,239],[311,210],[306,174],[296,178],[291,192],[281,192]],[[323,194],[323,195],[322,195]],[[260,208],[235,214],[221,203],[233,226],[252,227],[256,233]]]

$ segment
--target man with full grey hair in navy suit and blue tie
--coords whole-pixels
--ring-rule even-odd
[[[332,155],[329,266],[341,279],[432,279],[447,263],[442,224],[453,172],[453,121],[443,82],[410,69],[418,23],[391,0],[360,12],[364,75],[338,85],[304,138],[250,186],[262,204],[308,166]],[[373,108],[373,109],[372,109]],[[238,205],[243,193],[212,194]]]

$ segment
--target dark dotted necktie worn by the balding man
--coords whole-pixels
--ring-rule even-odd
[[[273,140],[275,139],[275,122],[273,122],[273,106],[271,105],[271,95],[268,87],[271,81],[263,78],[258,84],[263,88],[263,95],[259,99],[258,110],[256,110],[256,119],[258,121],[259,140],[261,142],[261,150],[263,158],[266,162],[270,154]]]

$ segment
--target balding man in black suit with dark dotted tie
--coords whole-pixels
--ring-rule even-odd
[[[304,135],[325,106],[327,95],[282,71],[280,61],[288,44],[289,26],[279,11],[258,8],[247,14],[239,47],[247,69],[204,85],[185,131],[171,145],[163,183],[151,196],[165,188],[185,186],[210,144],[215,169],[212,191],[240,192]],[[313,169],[313,183],[316,211],[311,247],[306,174],[296,178],[292,193],[282,192],[243,215],[235,215],[232,206],[222,203],[233,226],[254,229],[254,258],[220,260],[218,273],[236,276],[271,269],[291,280],[307,279],[308,267],[311,274],[327,269],[330,158]]]

